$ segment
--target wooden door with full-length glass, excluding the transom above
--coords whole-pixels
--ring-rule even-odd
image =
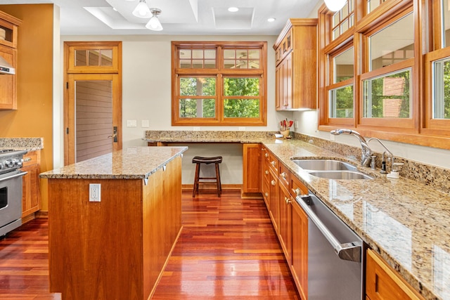
[[[122,148],[118,74],[69,74],[67,164]]]

